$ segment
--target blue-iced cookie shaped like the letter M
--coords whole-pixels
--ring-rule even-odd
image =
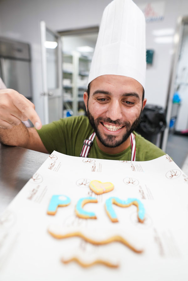
[[[110,197],[106,200],[105,203],[105,209],[107,212],[108,217],[111,219],[111,221],[118,222],[117,215],[112,207],[112,204],[115,204],[120,207],[129,207],[131,205],[135,205],[137,207],[138,211],[138,220],[140,223],[144,222],[144,215],[145,215],[145,209],[142,202],[136,198],[128,198],[126,201],[123,201],[119,199],[118,197]]]

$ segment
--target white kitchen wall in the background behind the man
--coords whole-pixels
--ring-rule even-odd
[[[42,121],[40,20],[44,20],[48,27],[56,31],[96,26],[100,24],[103,9],[110,2],[109,0],[0,1],[0,36],[31,44],[34,103]],[[134,2],[139,5],[145,1]],[[150,2],[154,0],[147,1]],[[146,24],[146,48],[154,49],[155,54],[153,66],[147,69],[145,95],[148,103],[163,107],[166,105],[173,43],[155,43],[152,31],[162,28],[175,29],[178,16],[188,14],[187,0],[166,0],[165,3],[165,19]]]

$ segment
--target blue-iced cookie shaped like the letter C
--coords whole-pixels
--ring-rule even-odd
[[[95,213],[87,212],[83,209],[84,205],[87,203],[97,203],[97,198],[94,197],[84,197],[78,200],[76,204],[75,212],[79,218],[97,218]]]

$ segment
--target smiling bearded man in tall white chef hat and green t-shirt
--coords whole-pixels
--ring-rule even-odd
[[[42,127],[32,103],[13,90],[0,91],[0,141],[90,158],[146,161],[162,156],[162,150],[132,133],[146,104],[145,71],[144,15],[132,0],[114,0],[103,13],[84,93],[88,117]],[[21,123],[28,118],[40,130]]]

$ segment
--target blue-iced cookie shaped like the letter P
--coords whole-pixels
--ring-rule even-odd
[[[65,207],[70,204],[70,198],[65,195],[53,195],[48,206],[48,215],[55,215],[58,207]]]

